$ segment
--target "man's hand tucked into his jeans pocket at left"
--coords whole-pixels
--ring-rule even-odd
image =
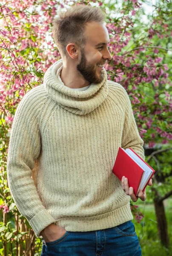
[[[43,240],[48,243],[60,239],[65,233],[66,230],[63,227],[52,223],[40,232],[40,236],[43,236]]]

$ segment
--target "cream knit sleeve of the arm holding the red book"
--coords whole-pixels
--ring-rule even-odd
[[[125,101],[126,102],[126,113],[125,121],[123,126],[123,136],[122,136],[122,148],[132,148],[143,160],[145,160],[143,140],[141,139],[138,128],[135,122],[135,117],[132,112],[132,106],[126,90]]]

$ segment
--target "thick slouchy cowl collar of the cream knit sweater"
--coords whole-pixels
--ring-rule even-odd
[[[86,115],[103,103],[109,93],[106,70],[103,70],[101,83],[90,84],[87,90],[77,91],[64,86],[58,79],[62,68],[63,61],[56,61],[48,68],[43,78],[46,92],[58,105],[76,115]]]

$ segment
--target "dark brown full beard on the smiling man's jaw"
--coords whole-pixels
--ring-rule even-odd
[[[92,64],[87,64],[84,49],[81,48],[81,60],[80,64],[77,65],[77,70],[84,77],[86,81],[91,84],[99,84],[103,81],[103,72],[100,76],[96,74],[96,67]]]

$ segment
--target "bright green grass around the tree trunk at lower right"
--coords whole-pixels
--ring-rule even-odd
[[[138,200],[135,203],[139,206],[139,210],[143,212],[144,202]],[[143,221],[137,223],[133,220],[135,224],[135,230],[138,235],[140,246],[142,248],[142,256],[170,256],[172,255],[172,198],[168,198],[164,201],[166,219],[168,224],[169,233],[169,248],[163,247],[161,241],[158,237],[158,227],[156,221],[156,214],[154,205],[146,201],[145,206],[145,224],[144,224],[144,236],[143,235]]]

